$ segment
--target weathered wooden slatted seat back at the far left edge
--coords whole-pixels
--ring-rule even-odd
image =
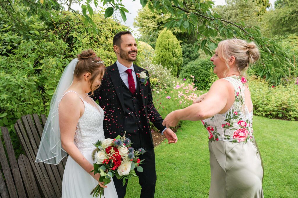
[[[0,161],[1,161],[1,177],[0,177],[0,197],[1,198],[40,198],[38,186],[30,166],[29,159],[21,154],[18,162],[15,158],[15,152],[9,136],[8,129],[1,127],[1,133],[4,139],[0,144]],[[1,138],[0,138],[1,139]],[[10,165],[10,166],[9,166]],[[2,177],[4,175],[4,178]]]

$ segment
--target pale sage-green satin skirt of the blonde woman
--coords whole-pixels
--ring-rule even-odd
[[[263,198],[263,163],[255,141],[210,141],[209,198]]]

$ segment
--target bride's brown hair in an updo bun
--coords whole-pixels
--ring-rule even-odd
[[[82,74],[86,72],[90,72],[91,78],[89,79],[89,82],[91,84],[90,88],[91,88],[91,93],[93,95],[93,92],[100,86],[98,85],[98,86],[92,87],[92,84],[95,78],[98,75],[100,75],[100,79],[102,79],[103,75],[105,74],[105,66],[103,65],[103,61],[100,59],[100,57],[97,57],[97,55],[94,53],[92,49],[83,51],[81,54],[77,55],[77,58],[79,62],[75,67],[74,77],[76,77],[77,79],[80,79]]]

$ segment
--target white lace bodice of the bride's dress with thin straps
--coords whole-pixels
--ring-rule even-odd
[[[65,96],[65,94],[69,92],[76,93],[75,91],[67,91],[66,93],[63,94],[63,96]],[[103,133],[104,112],[103,112],[103,109],[100,106],[98,106],[95,102],[94,104],[98,108],[84,101],[83,98],[78,93],[77,95],[83,101],[85,106],[85,111],[83,113],[83,116],[80,117],[77,123],[74,143],[81,151],[92,150],[94,149],[93,144],[97,140],[105,139],[105,136]],[[93,99],[91,98],[91,100]]]

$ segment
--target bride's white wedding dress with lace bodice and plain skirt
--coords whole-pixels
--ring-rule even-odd
[[[76,93],[75,91],[67,91],[63,96],[69,92]],[[79,94],[78,96],[80,97]],[[82,98],[81,100],[85,105],[85,111],[77,123],[74,143],[85,159],[93,164],[94,161],[91,157],[91,153],[95,149],[93,144],[97,140],[103,140],[105,138],[103,133],[104,112],[95,102],[94,105],[98,108],[84,101]],[[91,198],[91,190],[97,184],[98,182],[90,174],[68,156],[63,174],[62,198]],[[113,180],[107,186],[104,191],[105,198],[118,198]]]

